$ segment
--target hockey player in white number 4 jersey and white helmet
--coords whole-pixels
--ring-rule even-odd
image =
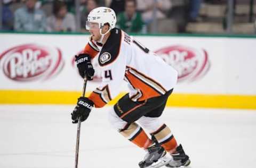
[[[85,121],[93,106],[103,107],[115,98],[125,80],[129,94],[111,108],[109,121],[121,135],[147,151],[139,166],[188,166],[189,157],[159,119],[177,83],[177,71],[115,24],[116,14],[108,7],[98,7],[88,15],[86,29],[91,36],[83,54],[76,56],[76,63],[79,74],[92,80],[91,59],[99,54],[102,82],[89,97],[78,98],[71,113],[73,123],[78,117]]]

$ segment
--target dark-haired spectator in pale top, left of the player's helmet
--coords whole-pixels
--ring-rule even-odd
[[[67,11],[67,5],[62,1],[53,2],[53,15],[47,18],[47,31],[76,31],[75,16]]]

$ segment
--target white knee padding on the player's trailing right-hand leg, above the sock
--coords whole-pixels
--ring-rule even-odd
[[[159,117],[146,117],[146,116],[140,117],[140,119],[137,120],[137,123],[140,124],[140,126],[149,133],[155,132],[164,124],[159,119]]]

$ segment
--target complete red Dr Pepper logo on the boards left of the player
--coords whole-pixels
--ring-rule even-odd
[[[58,48],[37,44],[16,46],[0,55],[1,68],[15,81],[46,80],[58,74],[64,61]]]

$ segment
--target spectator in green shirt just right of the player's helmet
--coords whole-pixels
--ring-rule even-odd
[[[126,32],[141,32],[143,21],[141,14],[136,12],[136,1],[126,0],[125,11],[117,16],[117,25]]]

